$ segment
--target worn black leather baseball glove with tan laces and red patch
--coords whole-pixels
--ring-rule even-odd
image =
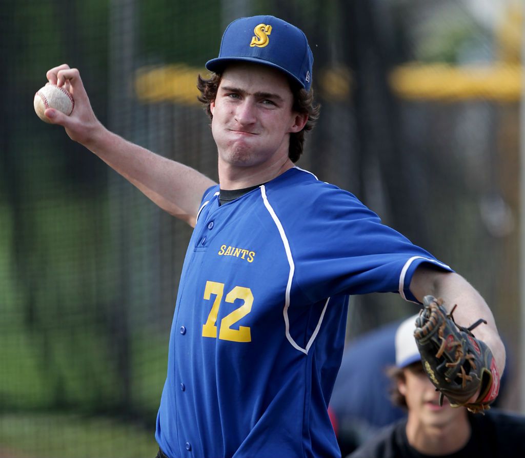
[[[447,314],[443,300],[425,296],[424,308],[416,318],[416,339],[421,362],[428,377],[440,391],[439,405],[445,395],[453,407],[465,406],[477,413],[490,409],[499,391],[499,374],[492,352],[472,334],[481,323],[479,319],[465,328]],[[474,395],[479,395],[472,401]]]

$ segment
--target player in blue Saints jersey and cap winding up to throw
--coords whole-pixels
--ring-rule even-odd
[[[327,412],[350,294],[434,294],[483,316],[478,337],[505,364],[495,322],[465,279],[381,224],[349,192],[295,165],[318,109],[306,36],[273,16],[240,18],[199,78],[219,184],[106,130],[79,71],[47,73],[75,98],[53,123],[167,212],[193,225],[156,422],[169,458],[337,457]]]

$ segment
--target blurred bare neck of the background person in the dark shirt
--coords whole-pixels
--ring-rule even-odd
[[[470,439],[467,414],[459,415],[445,425],[426,425],[408,415],[406,436],[408,443],[419,453],[449,455],[461,450]]]

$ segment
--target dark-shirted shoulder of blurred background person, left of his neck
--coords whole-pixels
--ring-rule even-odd
[[[390,458],[402,456],[400,442],[404,435],[406,419],[381,429],[374,438],[366,441],[347,458]]]

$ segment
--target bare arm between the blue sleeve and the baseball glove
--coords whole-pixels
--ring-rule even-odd
[[[505,369],[506,352],[498,334],[496,321],[485,299],[465,278],[455,273],[436,272],[419,267],[414,273],[410,288],[419,301],[426,295],[442,298],[449,312],[457,304],[454,320],[458,325],[469,327],[479,318],[486,320],[487,324],[479,325],[472,330],[472,334],[488,345],[501,376]]]

